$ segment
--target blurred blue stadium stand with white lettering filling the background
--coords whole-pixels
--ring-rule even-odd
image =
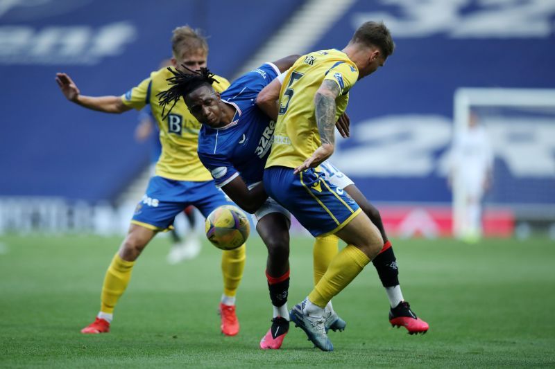
[[[147,150],[133,141],[135,116],[67,104],[53,80],[57,71],[69,73],[85,94],[124,93],[169,55],[171,30],[191,24],[210,35],[211,68],[232,78],[273,57],[274,50],[342,48],[362,21],[381,19],[397,50],[383,71],[355,87],[348,107],[352,137],[340,141],[333,162],[380,207],[394,206],[385,212],[398,219],[391,227],[412,229],[403,222],[429,217],[434,226],[448,228],[450,219],[444,217],[452,193],[445,178],[454,93],[461,87],[554,89],[555,3],[348,0],[335,8],[334,3],[285,0],[269,10],[254,0],[185,5],[172,0],[163,7],[146,0],[132,7],[98,0],[12,2],[0,10],[5,87],[0,93],[8,107],[0,134],[0,197],[113,201],[147,163]],[[237,15],[248,22],[237,22]],[[514,134],[494,137],[494,150],[505,154],[496,157],[486,203],[555,208],[555,114],[502,113],[520,123]],[[540,125],[538,116],[552,123]],[[498,150],[511,145],[521,154]],[[533,174],[518,170],[538,154],[552,166]],[[415,207],[424,213],[413,213]],[[554,217],[545,213],[551,223]],[[437,233],[446,234],[443,228]]]

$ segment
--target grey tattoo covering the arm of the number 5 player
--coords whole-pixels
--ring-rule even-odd
[[[330,89],[334,96],[339,96],[339,86],[332,80],[324,80],[323,85]],[[330,95],[316,93],[314,98],[316,125],[320,133],[321,143],[334,145],[335,129],[335,98]]]

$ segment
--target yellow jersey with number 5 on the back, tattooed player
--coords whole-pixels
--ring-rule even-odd
[[[349,90],[359,70],[342,51],[322,50],[300,57],[285,75],[280,91],[280,115],[275,126],[272,151],[266,168],[296,168],[321,145],[314,115],[314,95],[323,80],[338,84],[336,119],[347,109]]]

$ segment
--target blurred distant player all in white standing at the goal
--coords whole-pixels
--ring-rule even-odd
[[[470,112],[468,128],[454,139],[448,178],[450,187],[457,181],[465,194],[466,212],[460,236],[466,242],[478,242],[481,237],[481,201],[491,186],[492,174],[493,150],[488,133],[477,115]]]

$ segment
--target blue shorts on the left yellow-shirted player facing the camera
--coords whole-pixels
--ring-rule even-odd
[[[173,219],[187,206],[192,205],[207,217],[218,206],[231,204],[225,199],[214,181],[174,181],[164,177],[152,177],[131,223],[154,231],[173,228]]]

